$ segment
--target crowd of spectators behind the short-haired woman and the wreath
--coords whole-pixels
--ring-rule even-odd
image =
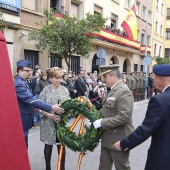
[[[47,68],[45,72],[41,71],[41,66],[35,66],[31,71],[27,83],[33,95],[39,97],[43,88],[51,83],[49,77],[49,71]],[[61,85],[67,88],[71,99],[79,96],[86,96],[96,106],[96,109],[101,108],[102,99],[107,94],[108,89],[104,82],[101,80],[101,76],[97,71],[86,72],[80,68],[78,74],[73,71],[66,71],[63,67],[61,68],[63,75],[61,77]]]

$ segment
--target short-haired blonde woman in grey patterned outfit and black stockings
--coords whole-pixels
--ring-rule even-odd
[[[47,85],[40,94],[40,99],[48,103],[58,103],[60,104],[64,100],[69,98],[69,92],[64,87],[61,86],[61,77],[63,72],[58,67],[53,67],[49,71],[49,76],[51,79],[51,84]],[[54,121],[58,122],[60,117],[55,115],[54,112],[44,112],[40,111],[41,116],[41,126],[40,126],[40,140],[45,143],[44,156],[46,162],[46,170],[51,170],[51,153],[53,145],[57,143],[58,154],[60,151],[60,143],[56,136],[56,130],[54,126]],[[61,170],[65,170],[65,148],[62,154]]]

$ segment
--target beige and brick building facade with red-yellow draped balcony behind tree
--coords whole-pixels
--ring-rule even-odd
[[[15,2],[15,4],[12,4],[12,2]],[[91,44],[93,50],[90,52],[89,58],[85,59],[83,56],[76,55],[72,57],[71,69],[73,71],[77,72],[81,66],[86,71],[91,72],[98,70],[101,63],[120,64],[122,72],[126,70],[144,71],[143,59],[145,57],[146,39],[147,55],[150,55],[151,52],[152,2],[149,3],[148,14],[146,14],[147,1],[135,1],[138,21],[137,41],[130,41],[120,34],[120,32],[123,32],[121,23],[131,9],[134,0],[0,0],[0,3],[11,7],[5,8],[1,5],[0,10],[4,17],[5,37],[13,72],[16,71],[16,62],[20,59],[31,60],[33,66],[41,64],[44,70],[52,66],[64,66],[67,69],[64,60],[59,59],[57,54],[48,57],[47,50],[40,53],[35,48],[35,42],[28,41],[29,31],[33,28],[38,29],[35,24],[36,21],[43,20],[44,23],[46,22],[43,15],[44,8],[53,8],[56,13],[74,15],[79,19],[86,17],[87,12],[91,14],[100,13],[106,18],[105,26],[101,28],[99,36],[95,37]],[[15,6],[18,11],[11,10]],[[147,17],[149,21],[146,33]],[[108,27],[109,29],[107,29]],[[116,32],[110,31],[111,29],[116,30]],[[105,54],[102,59],[99,59],[97,55],[100,50]]]

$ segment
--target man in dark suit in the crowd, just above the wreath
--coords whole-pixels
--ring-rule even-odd
[[[87,96],[87,86],[84,81],[84,71],[80,70],[79,77],[75,81],[75,86],[77,89],[76,97]]]

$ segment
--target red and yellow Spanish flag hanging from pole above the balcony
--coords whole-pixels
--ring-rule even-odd
[[[137,40],[137,19],[135,4],[132,6],[121,26],[126,31],[126,34],[130,40]]]

